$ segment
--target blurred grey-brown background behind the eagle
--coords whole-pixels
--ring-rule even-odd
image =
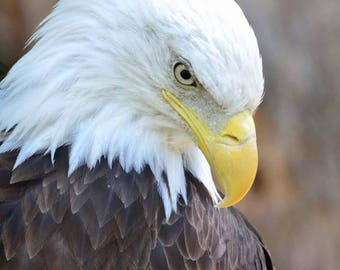
[[[340,2],[238,0],[259,39],[260,168],[239,205],[277,269],[340,265]],[[0,0],[0,74],[54,0]],[[0,75],[1,77],[1,75]]]

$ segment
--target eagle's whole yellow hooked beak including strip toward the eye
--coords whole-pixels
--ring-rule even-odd
[[[257,171],[255,124],[246,110],[231,117],[218,135],[212,134],[198,115],[169,91],[163,96],[196,136],[198,147],[209,162],[215,184],[225,198],[216,205],[238,203],[250,190]]]

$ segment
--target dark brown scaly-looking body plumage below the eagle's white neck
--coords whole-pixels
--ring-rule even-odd
[[[12,171],[17,154],[0,154],[0,269],[273,269],[242,214],[214,208],[190,175],[188,205],[166,221],[148,168],[102,159],[68,177],[65,147]]]

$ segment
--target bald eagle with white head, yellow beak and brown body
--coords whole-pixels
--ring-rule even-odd
[[[263,95],[233,0],[60,0],[0,83],[0,269],[273,269],[231,207]]]

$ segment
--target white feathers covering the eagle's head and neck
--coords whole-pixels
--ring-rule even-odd
[[[218,200],[207,161],[161,90],[206,121],[258,106],[262,61],[233,0],[60,0],[32,40],[0,83],[0,131],[11,130],[0,152],[20,149],[16,166],[70,145],[69,173],[102,156],[126,171],[149,165],[168,216],[186,198],[184,169]],[[178,59],[206,91],[174,82]]]

